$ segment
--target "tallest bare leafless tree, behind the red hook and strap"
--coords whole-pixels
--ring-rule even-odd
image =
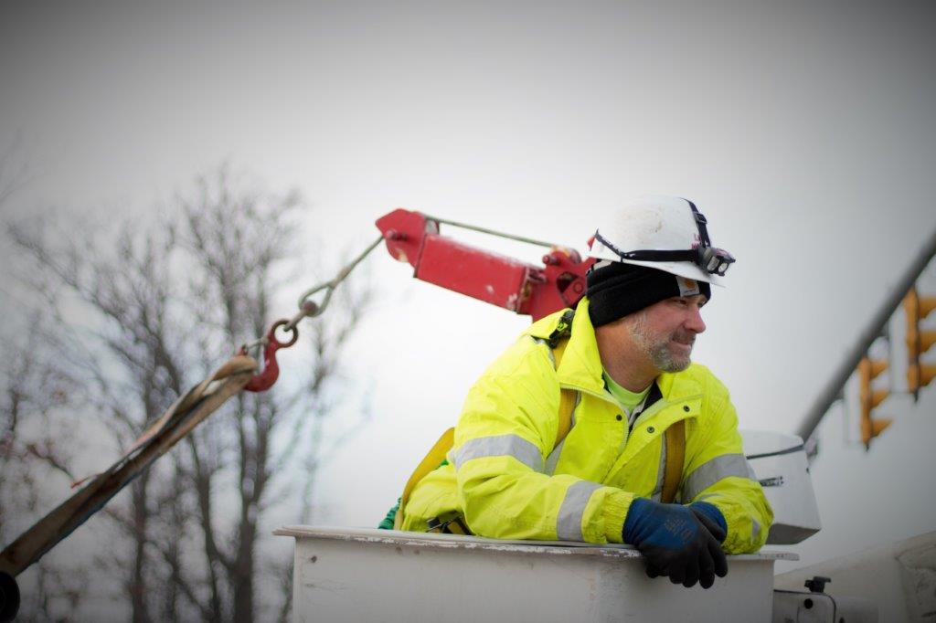
[[[57,369],[87,388],[84,405],[114,447],[128,447],[236,344],[266,332],[288,262],[299,259],[300,212],[296,193],[244,189],[221,167],[164,217],[124,223],[116,238],[11,229],[54,319]],[[305,378],[286,374],[270,392],[241,393],[109,506],[125,545],[100,562],[121,578],[135,622],[272,613],[275,603],[259,600],[256,584],[272,564],[262,550],[273,528],[265,517],[283,492],[297,499],[311,484],[289,468],[320,464],[329,447],[321,440],[337,404],[326,397],[369,299],[355,283],[342,293],[343,313],[312,325]],[[295,442],[303,435],[311,441]]]

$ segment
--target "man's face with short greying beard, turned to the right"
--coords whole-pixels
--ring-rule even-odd
[[[628,330],[654,368],[680,372],[692,363],[695,336],[705,330],[699,310],[706,297],[673,297],[636,312]]]

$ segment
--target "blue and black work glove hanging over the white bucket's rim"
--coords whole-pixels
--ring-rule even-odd
[[[636,498],[624,521],[624,543],[634,545],[647,559],[650,577],[666,575],[683,587],[694,587],[696,582],[703,588],[711,587],[715,575],[728,573],[728,562],[699,514],[720,528],[705,510]]]

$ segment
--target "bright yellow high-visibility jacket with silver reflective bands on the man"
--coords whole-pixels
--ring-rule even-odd
[[[679,500],[705,500],[724,514],[729,554],[767,540],[773,512],[741,448],[724,384],[703,366],[663,373],[656,399],[628,431],[607,392],[588,299],[578,304],[557,368],[546,340],[562,312],[530,326],[475,383],[448,464],[413,489],[402,529],[462,514],[478,536],[621,543],[635,497],[660,500],[664,430],[685,420]],[[578,390],[573,427],[553,448],[560,388]]]

